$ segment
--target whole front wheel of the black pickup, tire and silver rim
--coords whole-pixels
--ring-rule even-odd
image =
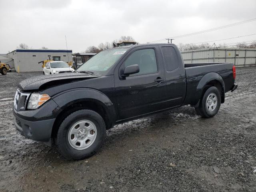
[[[78,110],[61,123],[56,146],[62,156],[80,160],[96,153],[102,146],[105,135],[105,122],[98,113]]]

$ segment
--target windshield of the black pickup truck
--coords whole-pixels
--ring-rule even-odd
[[[128,48],[104,50],[80,66],[77,71],[98,71],[108,70],[126,52]]]

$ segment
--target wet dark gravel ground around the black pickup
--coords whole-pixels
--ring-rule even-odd
[[[39,74],[0,75],[0,191],[256,191],[256,68],[237,69],[238,89],[214,118],[183,106],[120,124],[80,161],[14,128],[16,86]]]

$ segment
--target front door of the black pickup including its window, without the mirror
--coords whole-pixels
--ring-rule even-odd
[[[140,72],[126,78],[126,66],[138,64]],[[131,50],[115,70],[116,101],[120,119],[147,114],[164,108],[166,99],[164,68],[157,46],[141,46]]]

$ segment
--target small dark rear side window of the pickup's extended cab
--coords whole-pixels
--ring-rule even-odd
[[[162,52],[167,71],[172,71],[179,67],[178,56],[173,47],[162,47]]]

